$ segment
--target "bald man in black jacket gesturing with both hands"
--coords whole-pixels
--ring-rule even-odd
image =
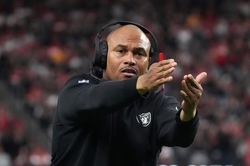
[[[63,87],[54,117],[53,166],[155,166],[162,146],[189,146],[198,128],[202,72],[181,82],[183,102],[159,87],[172,81],[173,59],[149,67],[151,42],[135,25],[107,37],[103,78],[79,74]]]

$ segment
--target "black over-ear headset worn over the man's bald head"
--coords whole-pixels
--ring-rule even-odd
[[[97,76],[99,78],[102,75],[101,74],[102,70],[105,70],[107,67],[108,44],[106,40],[100,41],[102,38],[103,31],[111,26],[115,26],[115,25],[124,26],[124,25],[129,25],[129,24],[137,26],[145,34],[150,35],[150,38],[152,41],[151,41],[151,48],[150,48],[149,56],[153,57],[154,55],[158,54],[158,43],[157,43],[156,37],[153,35],[153,33],[150,30],[148,30],[144,26],[137,24],[135,22],[131,22],[131,21],[117,21],[113,23],[108,23],[101,28],[101,30],[99,31],[99,33],[96,35],[96,38],[95,38],[95,54],[94,54],[93,67],[95,70],[99,70],[99,72],[97,73]]]

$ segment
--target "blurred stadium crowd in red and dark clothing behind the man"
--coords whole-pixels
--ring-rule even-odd
[[[177,61],[166,94],[181,101],[182,76],[208,73],[194,143],[164,147],[159,164],[249,166],[248,0],[2,0],[0,81],[25,101],[19,111],[34,118],[50,142],[61,87],[73,74],[89,71],[96,34],[117,20],[150,29],[165,58]],[[7,105],[0,101],[0,165],[49,165],[49,148],[26,137],[23,119]]]

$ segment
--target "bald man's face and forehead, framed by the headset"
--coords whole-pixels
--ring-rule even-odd
[[[107,68],[103,78],[124,80],[146,72],[150,61],[150,41],[138,27],[122,26],[108,36],[107,42]]]

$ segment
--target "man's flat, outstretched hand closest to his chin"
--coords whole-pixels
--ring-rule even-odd
[[[173,80],[170,75],[177,63],[173,59],[153,63],[147,73],[139,76],[136,89],[143,95],[149,91],[156,91],[161,85]]]

